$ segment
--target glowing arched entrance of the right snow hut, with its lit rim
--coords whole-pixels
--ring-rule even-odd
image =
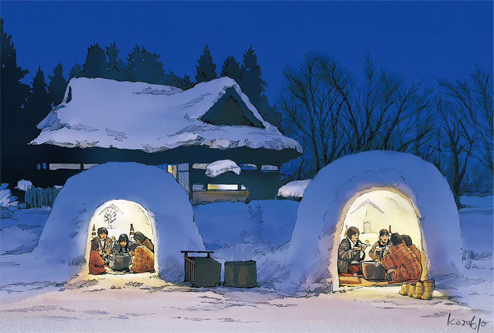
[[[423,280],[427,276],[427,252],[420,227],[420,216],[418,209],[404,193],[393,187],[373,186],[357,192],[348,200],[336,226],[333,244],[341,243],[349,227],[357,227],[360,231],[359,240],[368,246],[364,260],[372,260],[369,252],[378,240],[381,229],[388,230],[390,235],[394,232],[409,235],[421,254],[421,279]],[[338,247],[333,246],[330,252],[330,262],[337,260],[337,250]],[[329,270],[332,276],[338,276],[337,267],[332,265]],[[386,282],[370,282],[369,284],[369,281],[366,281],[365,284],[386,284]]]

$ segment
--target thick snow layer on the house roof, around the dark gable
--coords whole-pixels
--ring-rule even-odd
[[[252,112],[251,119],[257,118],[264,128],[218,126],[200,120],[229,88],[235,89]],[[146,152],[203,145],[220,149],[292,148],[302,152],[295,140],[264,121],[238,83],[229,77],[199,83],[188,90],[144,82],[73,78],[64,102],[50,111],[38,128],[42,131],[32,145]]]

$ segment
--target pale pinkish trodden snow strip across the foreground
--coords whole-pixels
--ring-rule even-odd
[[[60,288],[60,287],[54,287]],[[492,332],[490,311],[436,293],[432,300],[399,287],[287,296],[263,289],[191,290],[170,284],[66,285],[1,304],[2,332]],[[478,320],[481,327],[477,330]],[[468,326],[456,325],[468,321]]]

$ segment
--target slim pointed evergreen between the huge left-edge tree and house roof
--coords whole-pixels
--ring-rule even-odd
[[[51,110],[51,96],[46,90],[46,82],[40,66],[31,82],[30,90],[29,97],[24,104],[24,110],[26,114],[25,122],[27,124],[27,134],[30,140],[33,140],[39,134],[36,125],[38,125]]]

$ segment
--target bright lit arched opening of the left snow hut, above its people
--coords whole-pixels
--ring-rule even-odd
[[[108,230],[108,237],[113,244],[119,241],[121,234],[126,234],[130,241],[133,241],[133,232],[141,232],[151,240],[154,245],[154,269],[159,272],[158,256],[159,244],[156,242],[156,225],[149,216],[149,211],[134,201],[129,200],[109,200],[100,205],[92,215],[87,230],[87,242],[84,258],[89,261],[90,242],[97,237],[97,230],[105,227]],[[88,274],[88,266],[82,267],[82,274]]]

